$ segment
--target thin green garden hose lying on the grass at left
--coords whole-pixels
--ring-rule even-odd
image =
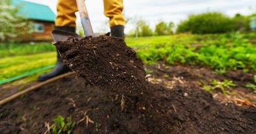
[[[22,74],[22,75],[14,76],[14,77],[12,77],[12,78],[7,78],[7,79],[5,79],[5,80],[1,80],[1,81],[0,81],[0,84],[4,84],[4,83],[7,83],[7,82],[11,82],[12,80],[16,80],[16,79],[22,78],[22,77],[24,77],[24,76],[32,75],[32,74],[34,74],[34,73],[38,73],[38,72],[44,71],[44,70],[46,70],[46,69],[53,68],[54,66],[55,66],[55,65],[48,65],[48,66],[43,67],[43,68],[41,68],[41,69],[36,69],[36,70],[34,70],[34,71],[30,71],[30,72],[24,73],[24,74]]]

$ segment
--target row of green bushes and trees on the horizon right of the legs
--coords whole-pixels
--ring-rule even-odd
[[[160,21],[155,28],[150,28],[146,20],[142,18],[133,18],[132,22],[135,25],[134,31],[129,33],[129,37],[147,37],[153,35],[172,35],[173,33],[229,33],[234,31],[249,31],[249,19],[256,14],[243,16],[236,14],[234,17],[229,17],[221,12],[205,12],[202,14],[190,15],[186,20],[177,25],[173,22]],[[175,32],[174,32],[175,31]]]

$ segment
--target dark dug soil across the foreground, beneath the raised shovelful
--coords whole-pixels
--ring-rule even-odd
[[[83,84],[69,76],[0,108],[1,133],[45,133],[58,115],[72,116],[80,133],[256,133],[256,110],[220,104],[190,86],[146,83],[139,97]]]

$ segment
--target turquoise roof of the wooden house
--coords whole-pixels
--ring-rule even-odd
[[[53,10],[47,5],[22,0],[12,0],[12,5],[20,8],[18,14],[31,20],[44,20],[49,22],[54,22],[55,20]]]

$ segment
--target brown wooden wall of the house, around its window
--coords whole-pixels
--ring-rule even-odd
[[[54,22],[45,22],[40,20],[32,20],[34,24],[43,24],[43,32],[33,32],[29,35],[24,35],[22,37],[17,37],[16,40],[19,41],[53,41],[51,33],[54,29]]]

